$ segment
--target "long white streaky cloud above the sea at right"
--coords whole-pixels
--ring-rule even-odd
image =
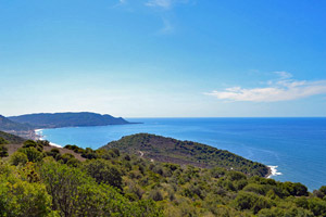
[[[233,87],[224,91],[212,91],[205,93],[218,100],[249,101],[249,102],[277,102],[308,98],[316,94],[326,94],[326,80],[308,81],[293,80],[292,75],[287,72],[276,72],[280,79],[268,81],[263,88]]]

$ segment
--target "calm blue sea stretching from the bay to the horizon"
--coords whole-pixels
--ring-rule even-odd
[[[277,166],[280,181],[326,186],[326,118],[127,118],[143,124],[45,129],[60,145],[98,149],[123,136],[149,132],[228,150]]]

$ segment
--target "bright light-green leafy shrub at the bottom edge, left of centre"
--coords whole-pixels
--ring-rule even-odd
[[[61,216],[142,216],[146,204],[133,204],[113,187],[97,184],[79,168],[46,163],[41,167],[41,178],[52,196],[52,208],[59,210]],[[152,215],[153,216],[153,215]]]

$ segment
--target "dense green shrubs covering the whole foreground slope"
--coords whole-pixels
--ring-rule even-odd
[[[0,216],[326,216],[326,187],[67,145],[79,162],[47,145],[0,161]]]

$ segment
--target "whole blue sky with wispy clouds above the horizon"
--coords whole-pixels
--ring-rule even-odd
[[[324,0],[0,0],[0,114],[326,116]]]

